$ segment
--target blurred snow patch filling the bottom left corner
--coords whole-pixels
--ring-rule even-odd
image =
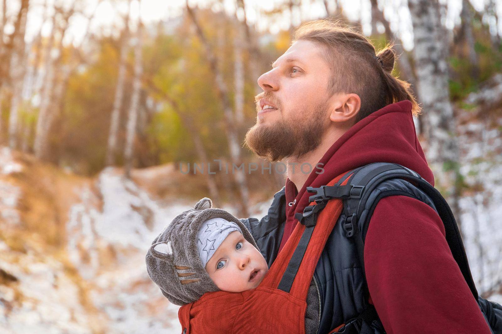
[[[91,333],[80,291],[60,262],[10,250],[0,268],[13,277],[0,285],[0,332]]]

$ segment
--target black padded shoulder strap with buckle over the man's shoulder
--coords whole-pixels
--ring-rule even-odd
[[[389,190],[381,192],[377,196],[371,196],[371,194],[373,190],[375,190],[382,182],[396,178],[404,179],[424,192],[434,203],[436,211],[443,221],[446,232],[446,241],[448,242],[448,246],[453,254],[453,258],[457,262],[465,281],[474,295],[474,298],[477,300],[477,289],[472,279],[467,255],[465,254],[465,248],[460,231],[458,230],[458,225],[448,203],[436,188],[424,180],[415,171],[393,163],[379,162],[368,164],[346,173],[341,180],[346,178],[348,178],[348,181],[345,186],[346,189],[342,195],[340,195],[340,186],[338,184],[335,184],[334,187],[308,187],[307,191],[317,193],[316,195],[310,197],[311,200],[321,201],[329,200],[331,198],[344,199],[344,214],[346,216],[346,221],[343,227],[345,235],[348,238],[353,238],[357,245],[359,261],[363,273],[364,238],[366,236],[369,220],[373,214],[374,208],[382,198],[402,194],[402,191]],[[336,187],[338,187],[338,189]]]

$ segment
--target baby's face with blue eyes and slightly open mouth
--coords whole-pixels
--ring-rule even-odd
[[[233,231],[207,261],[206,271],[220,290],[242,292],[257,287],[269,267],[262,253]]]

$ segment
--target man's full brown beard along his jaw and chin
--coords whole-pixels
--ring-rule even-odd
[[[326,108],[327,103],[319,103],[310,114],[307,109],[293,113],[299,115],[295,119],[281,117],[271,125],[257,123],[247,131],[245,144],[253,153],[272,162],[289,157],[299,159],[321,143]],[[279,111],[282,113],[283,109]]]

